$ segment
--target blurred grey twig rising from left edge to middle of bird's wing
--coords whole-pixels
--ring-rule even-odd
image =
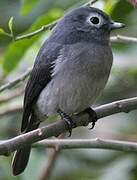
[[[18,83],[24,81],[24,80],[29,76],[30,72],[31,72],[31,69],[28,69],[24,74],[22,74],[22,75],[21,75],[20,77],[18,77],[17,79],[15,79],[15,80],[13,80],[13,81],[5,84],[5,85],[2,85],[2,86],[0,87],[0,92],[4,91],[4,90],[6,90],[6,89],[10,89],[10,88],[16,86]]]

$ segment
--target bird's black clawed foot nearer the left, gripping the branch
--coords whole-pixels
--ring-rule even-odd
[[[61,118],[67,123],[70,137],[72,134],[72,128],[76,127],[76,124],[73,122],[72,118],[68,114],[64,113],[60,109],[57,112],[59,113]]]

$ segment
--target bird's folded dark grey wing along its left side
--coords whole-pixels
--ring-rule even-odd
[[[36,103],[42,89],[51,80],[51,70],[60,49],[60,44],[45,43],[38,53],[25,89],[21,132],[26,130],[32,115],[33,105]]]

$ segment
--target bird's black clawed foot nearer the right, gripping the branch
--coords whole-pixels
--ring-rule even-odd
[[[89,128],[89,129],[90,130],[93,129],[95,124],[96,124],[96,122],[97,122],[97,120],[98,120],[96,112],[92,108],[90,108],[90,107],[85,109],[83,112],[88,113],[90,118],[92,119],[92,121],[91,121],[92,122],[92,127]]]

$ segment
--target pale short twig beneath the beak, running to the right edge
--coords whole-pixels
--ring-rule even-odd
[[[137,38],[135,37],[128,37],[122,35],[112,36],[110,38],[111,42],[121,42],[121,43],[137,43]]]

